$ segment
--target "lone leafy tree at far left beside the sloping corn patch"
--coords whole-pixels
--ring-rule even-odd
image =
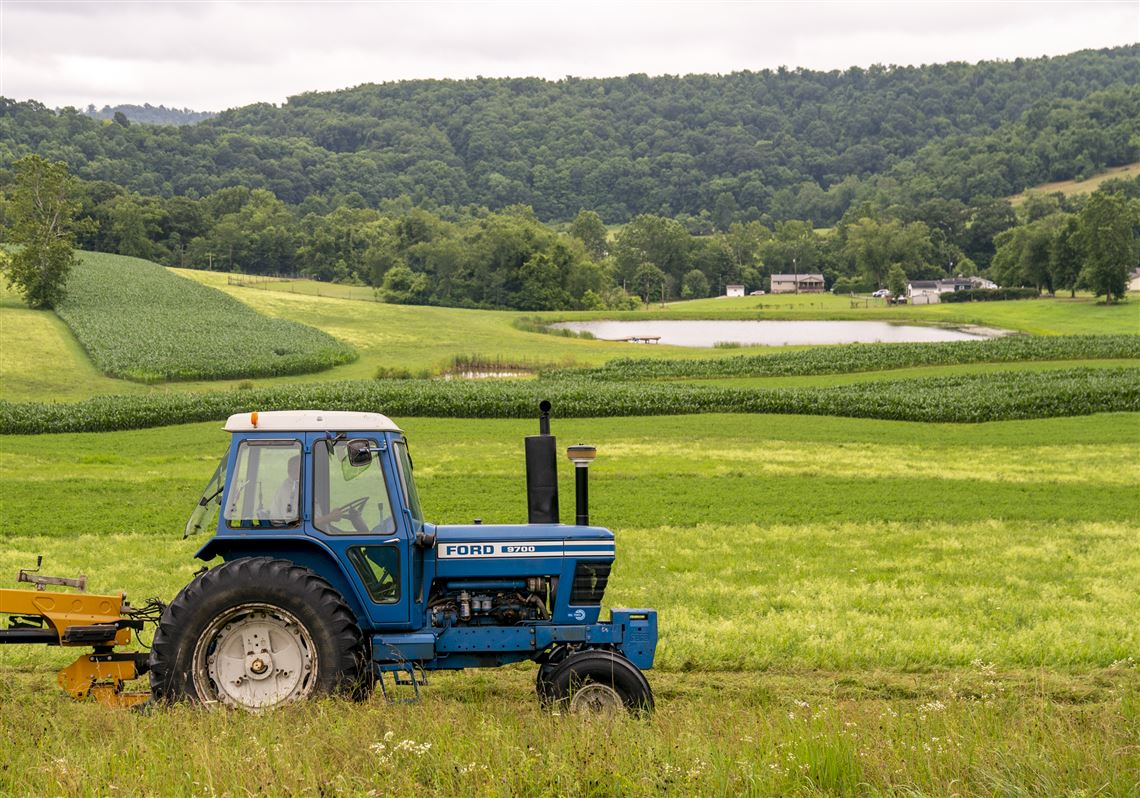
[[[74,181],[64,163],[27,155],[16,162],[8,203],[8,241],[19,244],[5,277],[31,308],[54,308],[64,298],[75,258]]]

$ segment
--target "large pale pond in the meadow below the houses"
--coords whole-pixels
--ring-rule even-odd
[[[559,329],[589,332],[603,341],[669,343],[677,347],[740,344],[790,347],[824,343],[901,343],[980,341],[1005,331],[988,327],[953,329],[891,321],[560,321]]]

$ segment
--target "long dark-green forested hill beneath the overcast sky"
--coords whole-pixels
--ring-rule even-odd
[[[38,152],[144,194],[243,185],[294,205],[357,193],[529,204],[547,220],[720,206],[829,225],[873,195],[974,202],[1133,161],[1137,75],[1140,46],[845,72],[407,81],[181,128],[2,100],[0,166]]]

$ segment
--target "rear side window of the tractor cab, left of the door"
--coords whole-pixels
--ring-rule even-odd
[[[245,440],[226,497],[230,527],[291,527],[301,520],[301,442]]]

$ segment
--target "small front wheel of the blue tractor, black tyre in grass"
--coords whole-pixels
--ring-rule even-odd
[[[644,674],[613,651],[571,654],[545,681],[546,693],[554,705],[570,712],[653,710],[653,691]]]

